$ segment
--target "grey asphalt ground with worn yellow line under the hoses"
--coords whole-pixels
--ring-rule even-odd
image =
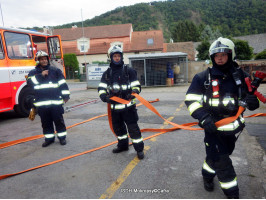
[[[85,83],[69,83],[71,99],[65,105],[67,126],[107,113],[95,89]],[[152,105],[178,124],[194,122],[184,105],[188,86],[143,88],[141,96],[160,101]],[[263,84],[260,91],[266,91]],[[82,105],[81,105],[82,104]],[[81,105],[81,106],[80,106]],[[139,126],[171,128],[146,107],[139,106]],[[265,104],[245,116],[266,113]],[[246,128],[232,154],[240,198],[265,198],[265,117],[247,118]],[[40,118],[31,122],[14,112],[0,113],[0,143],[42,134]],[[143,137],[154,135],[143,133]],[[203,131],[177,130],[145,140],[145,158],[139,161],[129,151],[113,154],[115,144],[47,167],[0,180],[0,198],[114,198],[114,199],[205,199],[225,198],[218,180],[215,190],[203,188],[201,166],[205,158]],[[116,141],[106,116],[68,130],[67,145],[56,140],[42,148],[42,139],[0,149],[0,175],[20,172],[66,156]]]

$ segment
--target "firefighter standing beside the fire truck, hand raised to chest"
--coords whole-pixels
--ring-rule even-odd
[[[62,71],[50,65],[49,56],[44,51],[36,53],[37,66],[29,72],[27,85],[35,93],[33,105],[41,117],[47,147],[55,140],[54,125],[61,145],[66,144],[66,126],[63,118],[63,104],[69,100],[69,89]]]

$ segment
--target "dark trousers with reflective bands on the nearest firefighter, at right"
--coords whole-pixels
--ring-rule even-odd
[[[238,197],[237,177],[229,155],[235,148],[236,137],[221,136],[205,132],[206,160],[202,176],[212,180],[217,175],[221,188],[227,197]]]

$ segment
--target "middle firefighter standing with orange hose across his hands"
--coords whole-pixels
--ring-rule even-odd
[[[120,47],[110,47],[108,57],[111,59],[111,63],[102,75],[98,93],[103,102],[111,104],[112,126],[118,139],[118,145],[113,149],[113,153],[128,150],[129,133],[138,158],[143,159],[144,143],[137,124],[136,99],[131,95],[132,93],[139,94],[141,91],[137,73],[133,68],[124,65],[123,52]],[[110,100],[112,96],[129,100],[130,103],[125,105],[114,102]]]

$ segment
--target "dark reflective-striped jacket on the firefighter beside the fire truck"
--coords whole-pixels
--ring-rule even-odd
[[[27,84],[34,90],[35,107],[62,105],[64,99],[69,99],[69,89],[62,71],[47,65],[44,70],[49,70],[47,76],[42,76],[43,69],[37,65],[29,72]]]

